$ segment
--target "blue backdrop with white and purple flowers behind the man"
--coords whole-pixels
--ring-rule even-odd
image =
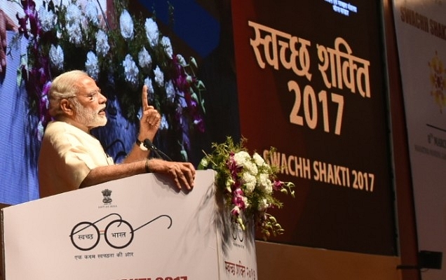
[[[191,0],[156,0],[151,5],[140,1],[146,9],[142,15],[140,10],[129,10],[126,1],[114,1],[114,10],[107,10],[107,15],[115,20],[109,20],[96,1],[80,3],[43,1],[38,7],[25,0],[18,4],[19,31],[8,31],[8,69],[0,80],[0,94],[11,94],[0,101],[4,113],[0,138],[11,143],[0,159],[7,172],[0,179],[5,186],[0,189],[1,203],[39,198],[36,162],[44,128],[51,120],[48,89],[55,76],[71,69],[89,73],[106,94],[108,123],[92,134],[116,162],[127,155],[137,136],[144,84],[149,87],[150,104],[162,115],[154,141],[159,149],[173,160],[196,164],[202,150],[210,147],[205,124],[209,92],[199,73],[203,72],[200,63],[218,43],[219,26],[208,10]],[[177,13],[171,13],[173,6]],[[175,25],[170,25],[172,20]],[[195,31],[177,28],[188,25],[195,25]],[[191,41],[185,33],[205,38]],[[186,46],[186,51],[180,53],[170,38]]]

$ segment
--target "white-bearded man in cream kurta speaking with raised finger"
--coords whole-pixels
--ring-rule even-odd
[[[125,160],[115,164],[100,142],[89,132],[107,123],[105,104],[95,80],[83,71],[62,73],[53,80],[48,93],[48,123],[39,155],[40,197],[56,195],[136,174],[157,172],[171,176],[177,188],[194,187],[195,169],[189,162],[149,159],[144,139],[153,141],[161,116],[147,103],[142,87],[142,117],[135,145]]]

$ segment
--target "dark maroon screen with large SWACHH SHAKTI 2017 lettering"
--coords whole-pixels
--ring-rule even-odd
[[[241,134],[297,195],[272,241],[396,255],[377,1],[233,1]]]

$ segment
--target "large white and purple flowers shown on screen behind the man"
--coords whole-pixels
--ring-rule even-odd
[[[11,1],[11,0],[10,0]],[[108,99],[118,99],[126,120],[137,123],[140,90],[148,87],[149,103],[161,113],[161,132],[175,139],[175,149],[187,160],[189,132],[205,130],[205,87],[196,77],[196,61],[175,54],[156,18],[136,18],[126,0],[114,0],[109,18],[93,0],[68,3],[21,0],[24,16],[19,34],[28,40],[19,83],[24,80],[34,113],[39,117],[36,137],[41,139],[50,120],[48,90],[51,80],[72,69],[86,71],[100,87],[112,88]],[[165,135],[165,134],[164,134]],[[132,136],[133,137],[133,136]]]

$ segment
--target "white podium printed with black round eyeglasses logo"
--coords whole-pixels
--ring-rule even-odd
[[[257,279],[255,234],[231,223],[213,170],[161,174],[1,210],[4,279]]]

